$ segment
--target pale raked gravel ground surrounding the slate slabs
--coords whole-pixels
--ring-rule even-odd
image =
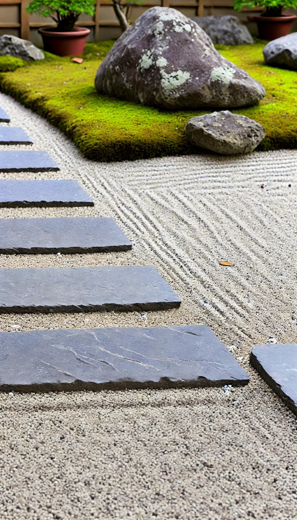
[[[204,323],[251,378],[225,391],[0,394],[0,518],[292,520],[296,420],[249,354],[297,342],[297,151],[93,163],[9,97],[0,106],[61,168],[0,178],[76,179],[95,201],[2,208],[0,218],[113,217],[133,243],[122,253],[2,255],[0,267],[152,264],[183,298],[144,314],[2,315],[0,329]]]

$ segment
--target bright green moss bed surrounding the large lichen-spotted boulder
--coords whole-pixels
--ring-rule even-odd
[[[186,123],[207,111],[167,112],[97,94],[96,70],[113,43],[87,44],[81,64],[45,53],[45,60],[38,62],[6,57],[5,68],[2,58],[0,89],[58,126],[89,159],[123,161],[192,153],[184,137]],[[264,45],[217,49],[266,89],[259,105],[236,109],[264,126],[266,137],[258,149],[297,148],[296,72],[265,66]]]

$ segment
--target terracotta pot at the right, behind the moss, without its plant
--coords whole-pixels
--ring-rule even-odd
[[[276,40],[289,34],[295,15],[282,16],[248,16],[248,20],[256,22],[261,40]]]

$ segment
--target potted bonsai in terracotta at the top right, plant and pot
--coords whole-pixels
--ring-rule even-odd
[[[297,0],[234,0],[234,8],[241,11],[243,7],[264,7],[260,16],[248,16],[248,20],[256,22],[262,40],[275,40],[286,36],[291,29],[294,15],[282,14],[283,9],[297,8]]]

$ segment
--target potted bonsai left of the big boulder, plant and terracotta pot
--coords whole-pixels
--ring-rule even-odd
[[[94,15],[95,0],[32,0],[27,7],[30,13],[50,17],[57,27],[42,28],[44,50],[58,56],[81,54],[84,50],[89,29],[74,27],[83,13]]]

